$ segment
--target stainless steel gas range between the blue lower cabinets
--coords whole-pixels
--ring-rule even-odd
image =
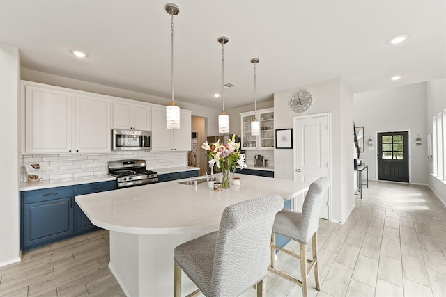
[[[158,173],[147,170],[145,160],[109,161],[109,175],[116,177],[118,188],[158,182]]]

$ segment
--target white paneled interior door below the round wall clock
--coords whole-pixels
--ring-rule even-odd
[[[328,115],[294,118],[294,180],[314,182],[328,176]],[[330,191],[321,205],[321,218],[329,218]],[[296,210],[302,211],[303,198]]]

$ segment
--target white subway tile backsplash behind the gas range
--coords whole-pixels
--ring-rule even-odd
[[[21,182],[27,181],[25,166],[39,163],[42,179],[62,179],[103,175],[108,162],[121,159],[143,159],[147,169],[187,166],[187,152],[113,151],[106,154],[23,154],[20,156]]]

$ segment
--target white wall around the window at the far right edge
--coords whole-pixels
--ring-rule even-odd
[[[438,79],[436,81],[429,81],[426,86],[427,93],[427,134],[432,134],[432,118],[434,115],[446,109],[446,79]],[[425,143],[423,145],[426,146]],[[425,155],[426,156],[426,155]],[[428,164],[428,183],[432,191],[436,193],[438,198],[443,200],[446,205],[446,184],[440,182],[436,177],[431,175],[432,161]]]

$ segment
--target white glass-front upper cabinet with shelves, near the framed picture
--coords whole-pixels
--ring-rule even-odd
[[[256,118],[260,122],[260,135],[251,135],[251,122]],[[256,113],[240,113],[242,125],[241,150],[272,150],[274,148],[274,109],[259,109]]]

